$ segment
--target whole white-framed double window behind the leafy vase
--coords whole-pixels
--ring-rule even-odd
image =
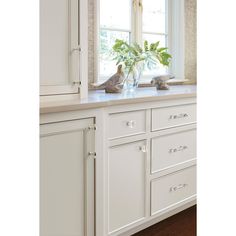
[[[169,69],[159,65],[152,71],[144,71],[141,82],[163,73],[173,73],[177,79],[184,79],[184,0],[97,0],[98,1],[98,82],[109,78],[116,71],[111,59],[115,40],[123,39],[149,43],[160,41],[172,54]]]

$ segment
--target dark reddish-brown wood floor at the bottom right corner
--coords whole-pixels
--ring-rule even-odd
[[[193,206],[133,236],[196,235],[196,206]]]

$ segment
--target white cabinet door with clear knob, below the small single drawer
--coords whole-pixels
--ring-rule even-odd
[[[146,142],[110,148],[108,156],[109,232],[145,217]]]

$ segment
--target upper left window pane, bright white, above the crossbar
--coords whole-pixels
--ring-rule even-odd
[[[130,0],[100,0],[100,26],[131,29]]]

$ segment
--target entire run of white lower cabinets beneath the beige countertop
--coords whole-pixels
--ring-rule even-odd
[[[195,102],[42,113],[40,236],[130,236],[195,204]]]

